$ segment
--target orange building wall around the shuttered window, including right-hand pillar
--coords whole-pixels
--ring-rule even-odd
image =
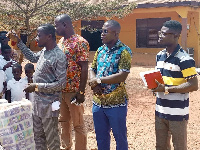
[[[179,38],[179,43],[184,44],[186,47],[194,48],[194,59],[196,66],[200,64],[200,38],[199,38],[199,9],[191,7],[173,7],[173,8],[141,8],[135,9],[129,16],[118,19],[113,18],[121,24],[120,40],[128,45],[133,52],[133,64],[135,65],[150,65],[155,66],[156,54],[162,50],[162,48],[136,48],[136,19],[146,18],[167,18],[171,17],[172,20],[177,20],[180,23],[185,22],[189,25],[186,28],[184,25],[184,32],[186,37]],[[106,20],[106,19],[105,19]],[[185,31],[187,30],[187,31]],[[183,43],[185,42],[185,43]]]

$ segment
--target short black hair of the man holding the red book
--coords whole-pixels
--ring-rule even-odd
[[[163,26],[169,28],[170,30],[174,30],[178,33],[181,33],[182,31],[182,25],[180,22],[176,21],[176,20],[169,20],[166,21]]]

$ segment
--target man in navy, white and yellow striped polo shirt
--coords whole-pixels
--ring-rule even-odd
[[[187,123],[189,119],[189,92],[198,89],[195,61],[178,44],[182,25],[166,21],[159,31],[158,42],[166,46],[156,56],[164,84],[158,87],[155,110],[156,149],[167,150],[168,132],[175,150],[187,149]]]

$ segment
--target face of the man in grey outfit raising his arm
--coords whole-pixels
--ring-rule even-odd
[[[40,27],[37,30],[36,41],[39,47],[46,47],[49,41],[49,35],[46,35]]]

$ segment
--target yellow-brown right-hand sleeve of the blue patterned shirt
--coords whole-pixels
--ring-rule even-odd
[[[130,72],[131,68],[131,55],[127,50],[121,53],[121,58],[119,61],[119,71]]]

